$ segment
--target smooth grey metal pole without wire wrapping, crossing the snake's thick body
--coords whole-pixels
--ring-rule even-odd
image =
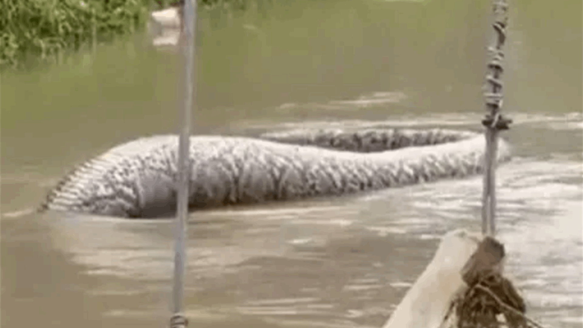
[[[179,11],[180,12],[180,11]],[[184,272],[186,230],[188,219],[188,184],[190,180],[189,138],[192,101],[196,89],[195,83],[195,26],[196,0],[185,0],[182,5],[182,33],[179,46],[184,61],[184,99],[180,110],[180,139],[178,141],[178,202],[175,226],[174,248],[174,286],[173,286],[173,316],[170,319],[171,328],[186,327],[188,322],[184,310]]]

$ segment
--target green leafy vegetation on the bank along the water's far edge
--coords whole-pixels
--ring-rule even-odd
[[[202,8],[242,9],[246,0],[199,0]],[[0,70],[26,58],[48,60],[83,44],[145,26],[152,9],[176,0],[0,0]]]

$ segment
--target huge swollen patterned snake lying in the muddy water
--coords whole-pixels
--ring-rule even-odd
[[[484,136],[455,130],[291,130],[192,136],[189,207],[331,196],[482,171]],[[176,135],[116,146],[75,168],[40,210],[160,217],[176,205]],[[510,159],[498,141],[497,161]]]

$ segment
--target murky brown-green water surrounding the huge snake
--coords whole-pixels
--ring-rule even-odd
[[[498,238],[528,313],[583,325],[581,2],[511,1]],[[291,1],[201,12],[195,134],[294,127],[480,130],[488,1]],[[108,148],[177,131],[178,56],[146,36],[2,73],[2,327],[163,327],[173,226],[31,211]],[[198,211],[192,327],[380,327],[454,228],[480,229],[482,178]]]

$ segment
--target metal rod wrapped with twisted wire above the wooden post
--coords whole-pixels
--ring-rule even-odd
[[[506,26],[508,22],[508,4],[505,0],[495,1],[494,12],[494,44],[488,48],[491,58],[487,64],[488,72],[486,81],[488,88],[486,97],[486,114],[482,124],[486,127],[486,153],[484,156],[484,185],[482,194],[482,234],[494,236],[496,233],[496,154],[498,145],[498,132],[507,130],[511,120],[500,114],[503,103],[503,83],[501,81],[504,61],[502,47],[506,40]]]

